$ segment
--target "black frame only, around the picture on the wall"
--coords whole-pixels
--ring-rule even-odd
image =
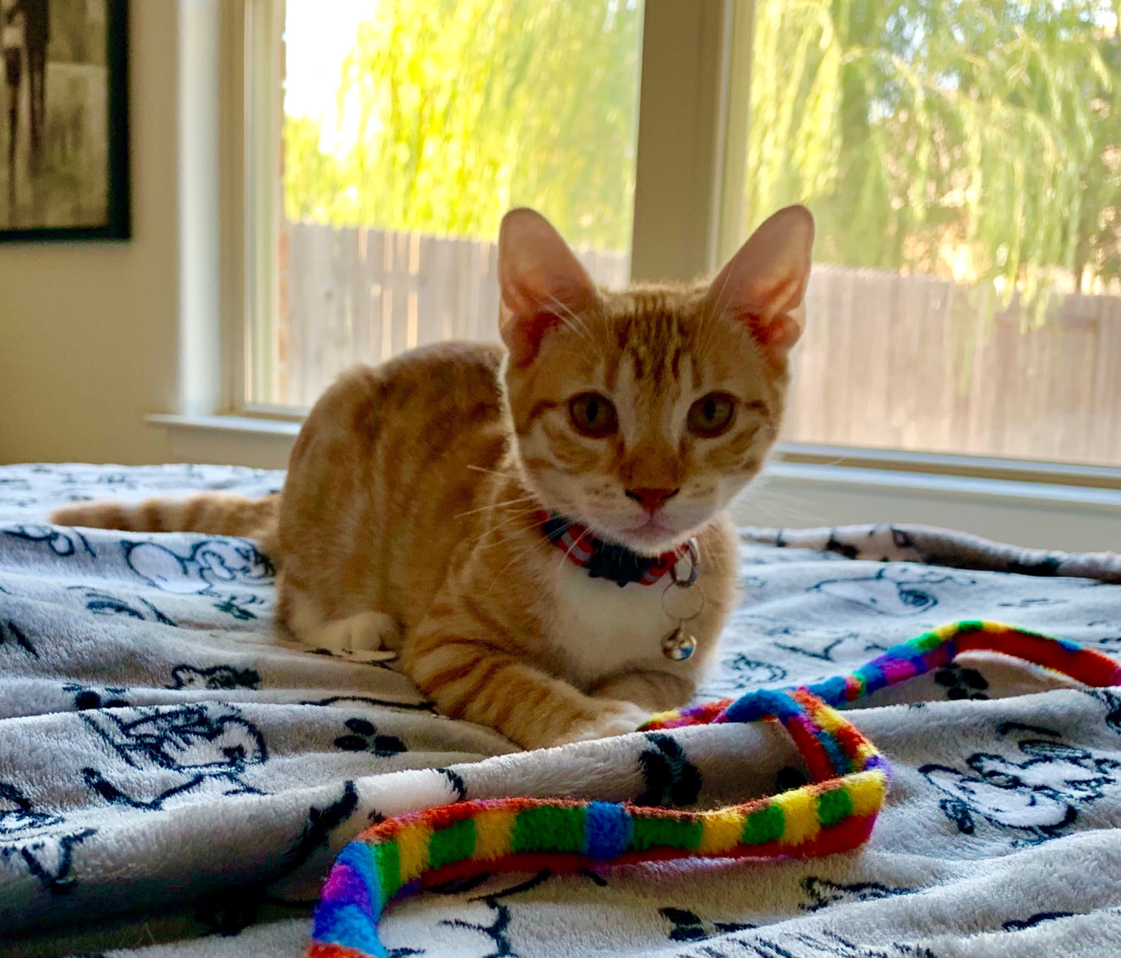
[[[108,106],[108,202],[105,223],[96,226],[30,226],[0,224],[0,243],[129,240],[132,199],[129,176],[129,0],[105,2],[105,83]]]

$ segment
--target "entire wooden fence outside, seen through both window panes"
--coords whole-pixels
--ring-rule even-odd
[[[287,224],[276,399],[311,406],[344,369],[441,340],[498,338],[495,247]],[[581,250],[609,287],[627,257]],[[1121,299],[1056,297],[1036,324],[979,289],[817,266],[785,436],[1121,465]]]

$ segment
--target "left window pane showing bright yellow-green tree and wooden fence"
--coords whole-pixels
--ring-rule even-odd
[[[287,0],[276,372],[339,372],[498,337],[502,214],[547,215],[627,282],[638,0]]]

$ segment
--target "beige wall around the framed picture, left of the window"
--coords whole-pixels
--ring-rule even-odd
[[[0,243],[0,463],[167,462],[178,351],[177,3],[133,0],[132,230]]]

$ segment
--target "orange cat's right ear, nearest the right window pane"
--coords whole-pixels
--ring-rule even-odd
[[[747,323],[763,355],[786,359],[802,335],[814,217],[805,206],[779,210],[716,273],[706,307]]]

